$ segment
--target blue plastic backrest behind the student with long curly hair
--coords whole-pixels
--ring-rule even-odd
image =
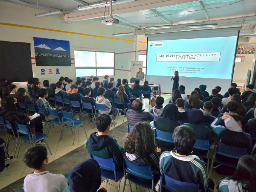
[[[151,169],[151,166],[136,166],[126,159],[124,159],[123,163],[125,171],[135,175],[137,177],[141,177],[144,179],[154,179],[154,172]]]

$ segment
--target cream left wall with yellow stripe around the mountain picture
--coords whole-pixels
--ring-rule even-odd
[[[39,11],[42,12],[42,11]],[[70,54],[74,58],[74,50],[96,50],[110,51],[115,53],[124,53],[115,55],[115,79],[129,79],[130,61],[135,58],[135,30],[120,26],[103,25],[102,23],[93,23],[91,21],[79,21],[72,24],[61,23],[61,16],[49,16],[38,18],[35,14],[38,10],[0,3],[0,41],[27,42],[31,44],[31,56],[35,57],[33,37],[52,38],[70,41]],[[88,22],[88,23],[86,23]],[[60,30],[63,32],[52,31]],[[113,33],[134,32],[134,35],[121,36],[118,39]],[[79,34],[74,34],[79,33]],[[98,35],[100,37],[93,37]],[[125,41],[128,40],[128,41]],[[143,44],[143,43],[139,43]],[[138,46],[140,47],[140,45]],[[146,47],[146,44],[145,44]],[[133,52],[134,51],[134,52]],[[35,62],[35,60],[32,60]],[[123,66],[123,68],[121,67]],[[0,67],[4,67],[0,63]],[[70,79],[76,79],[75,65],[71,67],[58,67],[59,75],[41,75],[41,68],[48,70],[48,66],[32,65],[34,77],[38,77],[41,82],[45,79],[50,83],[57,82],[60,76],[68,76]],[[52,67],[55,70],[55,67]],[[11,73],[10,73],[11,75]],[[99,77],[103,79],[103,77]],[[19,83],[18,87],[26,87],[26,83]]]

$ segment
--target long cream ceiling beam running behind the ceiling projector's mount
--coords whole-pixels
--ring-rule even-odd
[[[136,12],[157,7],[171,6],[181,3],[189,3],[197,0],[137,0],[128,3],[120,3],[113,5],[113,15],[128,12]],[[105,7],[90,9],[81,12],[65,14],[65,21],[86,20],[98,17],[104,17]]]

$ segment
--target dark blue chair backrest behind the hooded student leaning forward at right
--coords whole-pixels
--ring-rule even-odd
[[[234,159],[239,159],[241,156],[247,154],[247,148],[233,147],[218,142],[215,146],[215,153]]]

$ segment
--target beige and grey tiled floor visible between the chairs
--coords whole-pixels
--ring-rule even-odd
[[[162,94],[162,96],[165,98],[164,105],[168,104],[170,95]],[[145,100],[144,108],[145,111],[149,111],[148,100]],[[116,127],[111,127],[111,130],[108,132],[108,134],[113,136],[113,138],[116,139],[118,144],[121,146],[124,145],[127,136],[128,126],[126,117],[125,122],[123,122],[123,117],[124,116],[121,115],[117,117]],[[90,122],[88,116],[85,116],[83,120],[85,121],[86,134],[89,137],[90,134],[94,131],[94,129],[92,129],[92,122]],[[49,144],[52,155],[49,155],[48,170],[51,173],[64,175],[65,173],[69,173],[77,163],[89,158],[89,154],[84,145],[87,141],[87,138],[85,136],[83,128],[79,128],[79,130],[77,131],[74,145],[72,145],[74,136],[72,135],[70,128],[66,128],[64,130],[63,139],[60,142],[58,141],[59,134],[60,129],[58,125],[55,125],[54,128],[50,128],[47,142]],[[7,141],[7,137],[3,133],[0,133],[0,137]],[[8,148],[10,155],[14,155],[15,144],[15,140],[11,140]],[[12,160],[10,162],[10,169],[6,170],[5,172],[3,172],[3,174],[0,175],[0,192],[20,192],[20,187],[23,186],[24,177],[34,171],[33,169],[27,167],[22,161],[24,151],[29,147],[30,145],[28,143],[23,143],[20,146],[19,157]],[[213,170],[211,178],[215,183],[217,183],[218,180],[224,178],[224,176],[218,175]],[[117,185],[117,183],[113,181],[111,182],[112,184]],[[123,182],[124,180],[122,180],[121,182],[121,189],[123,188]],[[117,192],[117,190],[112,186],[110,190],[110,187],[107,186],[107,184],[105,183],[102,183],[102,186],[105,187],[108,192]],[[129,187],[125,188],[125,192],[127,192],[127,190],[130,191]],[[132,191],[140,192],[145,190],[145,188],[139,186],[137,187],[137,189],[135,189],[135,185],[132,185]]]

